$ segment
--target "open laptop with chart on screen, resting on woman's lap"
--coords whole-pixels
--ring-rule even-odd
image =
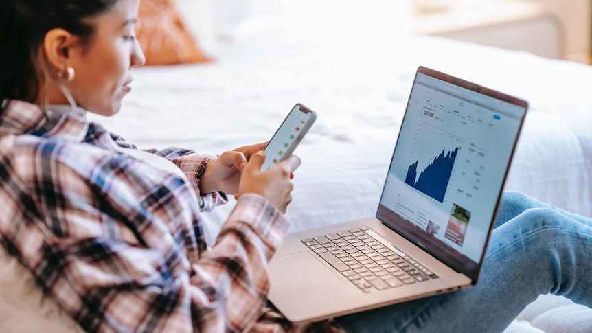
[[[288,234],[273,306],[303,323],[477,284],[527,108],[419,67],[376,216]]]

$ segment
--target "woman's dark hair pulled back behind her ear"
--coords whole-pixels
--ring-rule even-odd
[[[0,112],[5,100],[36,100],[38,47],[56,27],[89,38],[88,18],[110,10],[119,0],[0,0]]]

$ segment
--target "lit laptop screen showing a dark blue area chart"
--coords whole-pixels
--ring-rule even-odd
[[[475,284],[526,111],[420,67],[376,217]]]

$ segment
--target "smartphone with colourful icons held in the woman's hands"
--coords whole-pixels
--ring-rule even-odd
[[[265,162],[261,171],[290,157],[315,120],[317,120],[315,111],[302,104],[296,104],[263,149]]]

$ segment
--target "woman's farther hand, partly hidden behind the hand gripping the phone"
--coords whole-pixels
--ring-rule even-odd
[[[200,177],[200,192],[207,194],[222,191],[227,194],[236,194],[240,175],[247,161],[255,152],[263,150],[265,145],[266,142],[242,146],[220,154],[218,159],[208,161]]]

